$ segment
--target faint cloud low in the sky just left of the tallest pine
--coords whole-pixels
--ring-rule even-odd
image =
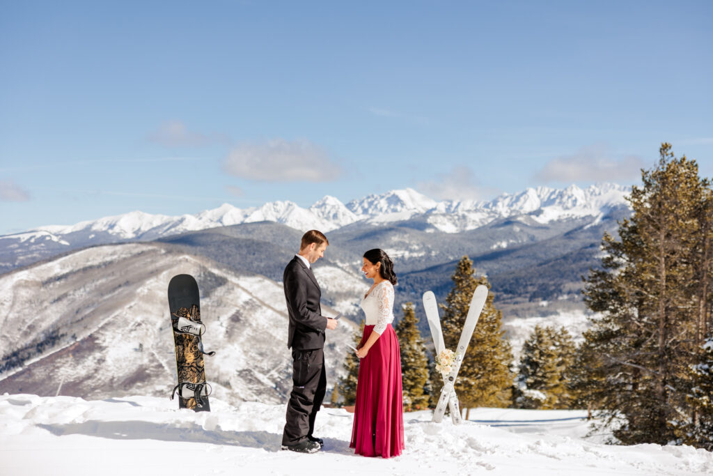
[[[630,181],[639,177],[644,167],[637,156],[615,158],[605,146],[590,146],[571,156],[553,158],[534,178],[542,182]]]

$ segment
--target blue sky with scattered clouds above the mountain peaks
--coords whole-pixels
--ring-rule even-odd
[[[0,1],[0,233],[713,176],[709,1]]]

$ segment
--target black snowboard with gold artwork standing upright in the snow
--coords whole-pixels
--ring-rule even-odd
[[[178,385],[173,388],[171,399],[178,392],[178,407],[197,412],[209,412],[210,385],[205,381],[204,353],[201,335],[205,325],[200,320],[200,296],[198,283],[193,276],[180,274],[168,283],[168,308],[173,328],[173,343],[176,353]]]

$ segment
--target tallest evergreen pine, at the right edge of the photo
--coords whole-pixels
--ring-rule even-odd
[[[606,375],[589,397],[607,422],[624,418],[614,431],[621,442],[665,444],[694,416],[685,395],[710,312],[699,285],[709,273],[702,269],[701,213],[709,184],[667,143],[657,167],[642,171],[642,183],[632,188],[633,213],[619,223],[620,240],[605,234],[602,269],[590,270],[584,290],[585,304],[602,315],[585,335],[599,359],[593,376]]]

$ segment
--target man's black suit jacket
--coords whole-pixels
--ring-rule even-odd
[[[287,347],[295,350],[323,348],[327,318],[319,306],[322,291],[312,270],[295,256],[284,268],[282,282],[289,314]]]

